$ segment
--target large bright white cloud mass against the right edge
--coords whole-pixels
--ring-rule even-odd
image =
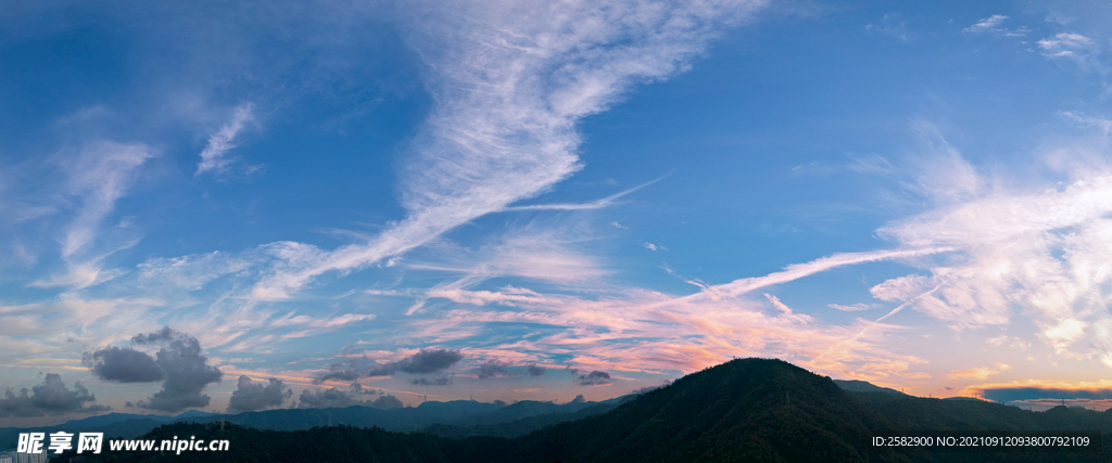
[[[1112,345],[1094,326],[1112,320],[1104,302],[1112,298],[1112,175],[1084,174],[1042,191],[993,181],[991,190],[882,228],[882,236],[904,246],[960,251],[930,266],[929,276],[891,279],[874,286],[873,295],[905,302],[956,329],[1005,325],[1022,314],[1060,355],[1106,355]]]

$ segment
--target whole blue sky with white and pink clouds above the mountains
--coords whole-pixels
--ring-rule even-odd
[[[0,4],[0,425],[1112,405],[1112,4]]]

